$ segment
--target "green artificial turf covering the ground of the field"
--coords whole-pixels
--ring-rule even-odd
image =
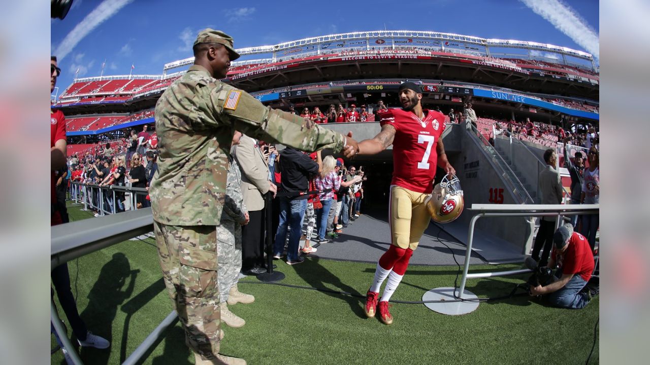
[[[78,208],[69,212],[71,220],[92,217]],[[375,267],[315,258],[294,266],[276,263],[286,275],[283,284],[358,295],[367,291]],[[83,347],[85,364],[119,364],[172,310],[151,239],[122,242],[68,266],[81,317],[90,331],[111,342],[109,349]],[[517,267],[480,265],[471,271]],[[453,286],[457,271],[412,266],[393,299],[420,301],[431,288]],[[473,279],[467,290],[479,297],[506,296],[523,279]],[[598,297],[582,310],[567,310],[517,296],[482,303],[463,316],[396,303],[395,321],[387,326],[366,318],[359,297],[259,284],[254,277],[242,279],[239,289],[253,294],[255,302],[229,306],[246,325],[223,325],[221,352],[248,364],[580,364],[590,353],[599,312]],[[596,342],[590,363],[598,363],[598,350]],[[60,351],[51,359],[64,364]],[[142,363],[193,364],[181,327],[168,329]]]

